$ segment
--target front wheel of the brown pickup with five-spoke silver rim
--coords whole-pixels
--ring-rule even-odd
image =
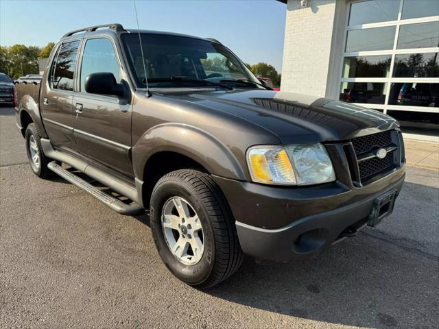
[[[230,208],[206,173],[182,169],[163,176],[152,192],[150,220],[163,263],[191,286],[213,287],[242,263]]]

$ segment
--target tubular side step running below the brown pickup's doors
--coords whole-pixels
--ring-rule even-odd
[[[143,208],[141,206],[137,204],[126,204],[116,199],[115,197],[112,197],[111,195],[102,192],[101,190],[99,190],[99,188],[96,188],[95,186],[86,182],[74,173],[71,173],[70,171],[62,168],[59,164],[56,163],[56,161],[50,162],[49,164],[47,164],[47,167],[51,171],[54,171],[54,173],[64,178],[64,180],[67,180],[67,182],[71,182],[71,184],[78,186],[86,193],[93,195],[93,197],[98,199],[103,204],[106,204],[112,210],[115,210],[115,212],[119,212],[119,214],[121,215],[139,215],[143,212]]]

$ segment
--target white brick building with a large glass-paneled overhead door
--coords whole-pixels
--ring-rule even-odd
[[[374,108],[439,141],[439,0],[278,1],[281,90]]]

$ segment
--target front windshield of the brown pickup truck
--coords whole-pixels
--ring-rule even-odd
[[[139,35],[123,34],[122,40],[134,79],[138,86],[145,87]],[[215,42],[167,34],[141,34],[141,40],[150,88],[191,83],[200,86],[204,82],[218,86],[236,82],[240,88],[261,88],[241,60]]]

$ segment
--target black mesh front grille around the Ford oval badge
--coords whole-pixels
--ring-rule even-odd
[[[351,143],[353,145],[359,171],[357,175],[353,175],[353,180],[359,180],[359,182],[364,185],[370,182],[376,175],[390,171],[396,166],[394,152],[397,151],[397,149],[389,151],[383,159],[373,157],[368,160],[358,161],[362,156],[373,154],[374,151],[381,147],[399,147],[399,145],[396,145],[396,143],[392,141],[392,130],[353,138]]]

